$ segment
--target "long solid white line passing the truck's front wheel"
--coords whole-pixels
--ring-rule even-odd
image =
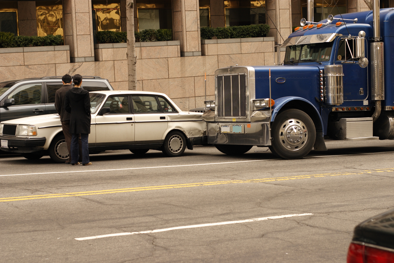
[[[394,153],[394,151],[381,151],[378,153]],[[304,157],[304,159],[311,158],[322,158],[322,157],[336,157],[336,156],[351,156],[351,155],[366,155],[366,154],[378,154],[378,153],[352,153],[343,155],[323,155],[323,156],[310,156]],[[106,172],[106,171],[120,171],[120,170],[137,170],[137,169],[150,169],[150,168],[170,168],[170,167],[182,167],[182,166],[199,166],[199,165],[210,165],[210,164],[234,164],[240,162],[262,162],[262,161],[274,161],[282,159],[264,159],[264,160],[248,160],[248,161],[236,161],[236,162],[212,162],[205,164],[183,164],[183,165],[169,165],[169,166],[151,166],[151,167],[136,167],[136,168],[120,168],[120,169],[105,169],[105,170],[86,170],[86,171],[68,171],[68,172],[46,172],[46,173],[16,173],[16,174],[4,174],[1,176],[13,176],[13,175],[35,175],[35,174],[53,174],[53,173],[85,173],[85,172]]]

